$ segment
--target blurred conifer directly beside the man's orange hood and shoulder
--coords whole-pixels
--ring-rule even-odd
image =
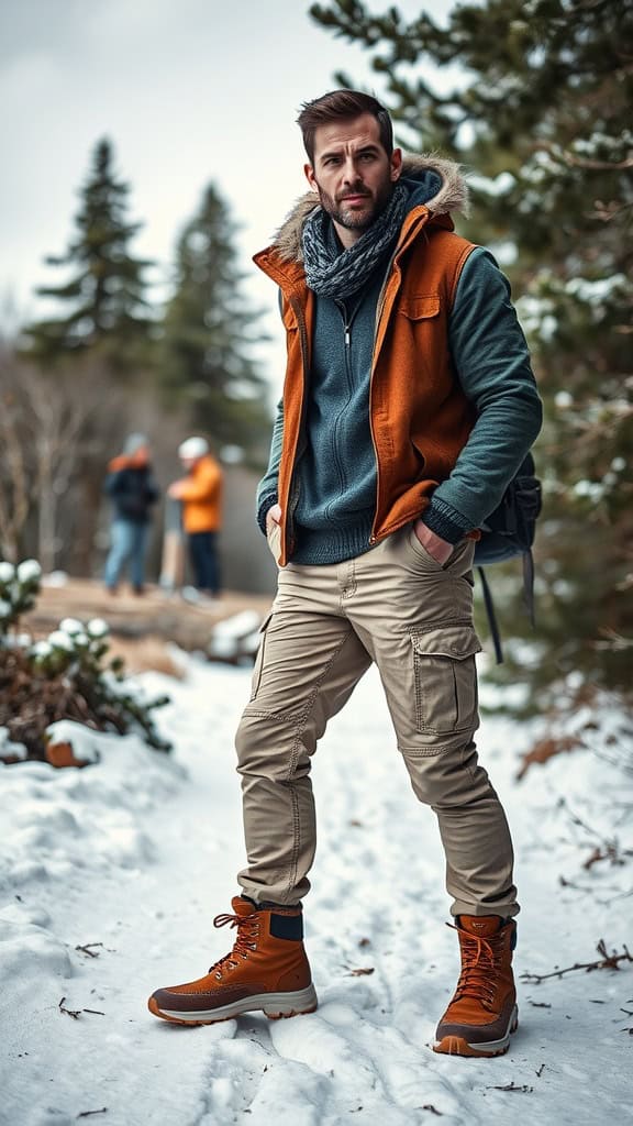
[[[264,338],[255,328],[259,313],[241,294],[235,231],[229,207],[208,185],[178,239],[160,367],[168,394],[190,404],[196,429],[257,461],[269,430],[265,381],[252,357]]]

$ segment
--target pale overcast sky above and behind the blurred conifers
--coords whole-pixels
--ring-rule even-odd
[[[372,0],[376,11],[385,0]],[[433,12],[451,0],[435,0]],[[407,16],[419,0],[400,0]],[[0,303],[38,312],[33,288],[72,232],[77,189],[108,135],[132,187],[133,244],[168,276],[179,226],[213,180],[241,224],[248,293],[275,309],[249,258],[269,242],[305,184],[301,102],[336,70],[372,86],[366,55],[322,30],[307,0],[0,0]],[[264,354],[278,382],[279,340]]]

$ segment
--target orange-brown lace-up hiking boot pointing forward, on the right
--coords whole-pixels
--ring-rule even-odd
[[[462,973],[433,1049],[447,1055],[502,1055],[518,1025],[512,976],[516,923],[499,915],[460,915],[454,930]]]

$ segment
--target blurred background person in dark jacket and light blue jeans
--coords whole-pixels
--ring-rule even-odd
[[[144,435],[130,435],[123,454],[108,465],[104,489],[114,507],[106,587],[115,593],[122,571],[128,564],[132,589],[135,595],[142,595],[150,510],[159,498]]]

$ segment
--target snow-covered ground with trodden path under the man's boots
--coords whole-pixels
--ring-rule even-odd
[[[373,672],[314,762],[305,906],[319,1010],[195,1029],[150,1016],[157,986],[228,949],[213,917],[230,910],[243,864],[232,740],[249,672],[187,668],[181,683],[143,678],[172,696],[158,717],[171,757],[100,736],[100,762],[83,770],[0,768],[2,1126],[631,1120],[633,965],[519,982],[503,1057],[430,1051],[457,942],[435,819],[409,788]],[[607,758],[632,738],[613,723]],[[633,950],[631,778],[578,751],[517,784],[529,741],[500,718],[479,740],[514,829],[518,975],[590,963],[600,939]],[[607,838],[613,859],[583,869]]]

